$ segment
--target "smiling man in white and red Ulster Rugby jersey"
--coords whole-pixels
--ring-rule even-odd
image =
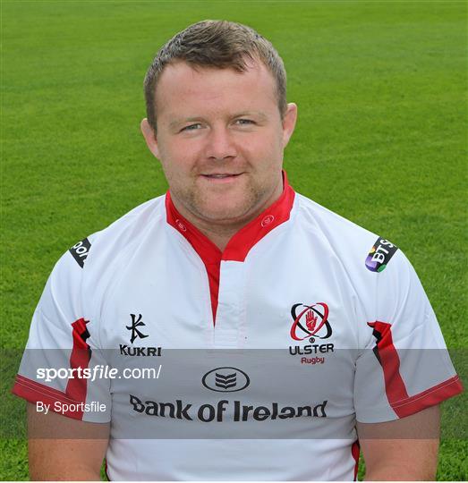
[[[297,107],[276,50],[201,21],[145,93],[170,190],[47,282],[14,387],[31,477],[98,479],[106,455],[110,479],[355,479],[357,427],[368,479],[434,479],[438,403],[460,381],[401,251],[289,185]],[[38,380],[141,361],[163,377]]]

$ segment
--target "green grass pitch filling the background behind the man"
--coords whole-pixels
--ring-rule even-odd
[[[300,113],[291,183],[404,250],[466,386],[466,13],[450,1],[3,0],[0,478],[28,479],[25,404],[9,390],[47,275],[166,191],[139,131],[142,80],[166,39],[205,18],[277,47]],[[465,395],[444,404],[438,479],[468,479],[466,412]]]

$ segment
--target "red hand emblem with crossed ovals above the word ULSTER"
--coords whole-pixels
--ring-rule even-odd
[[[316,339],[328,339],[332,334],[328,322],[328,305],[324,302],[317,302],[311,305],[295,303],[291,308],[293,325],[291,326],[291,337],[294,341],[309,339],[314,343]]]

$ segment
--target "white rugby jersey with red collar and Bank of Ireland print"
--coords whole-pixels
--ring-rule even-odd
[[[157,376],[47,381],[47,368]],[[461,391],[403,253],[286,178],[223,252],[169,192],[74,245],[47,281],[13,388],[111,421],[107,472],[120,480],[355,479],[356,421]]]

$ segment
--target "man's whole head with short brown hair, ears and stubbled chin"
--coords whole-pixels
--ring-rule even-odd
[[[267,40],[232,22],[199,22],[160,50],[145,92],[141,131],[194,225],[238,229],[281,195],[296,106],[285,102],[283,63]]]

